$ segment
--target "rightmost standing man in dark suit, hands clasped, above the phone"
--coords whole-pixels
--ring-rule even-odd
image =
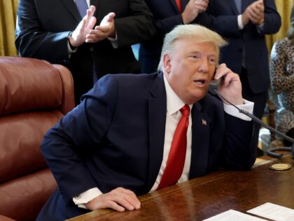
[[[281,27],[274,0],[210,0],[207,13],[213,16],[212,28],[229,41],[221,62],[240,74],[243,97],[255,103],[254,114],[261,118],[269,87],[265,34]]]

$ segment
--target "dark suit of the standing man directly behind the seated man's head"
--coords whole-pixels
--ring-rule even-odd
[[[188,2],[189,0],[181,1],[182,11]],[[156,34],[149,41],[140,43],[139,61],[141,62],[141,72],[149,74],[158,69],[165,34],[170,32],[176,25],[183,25],[183,18],[175,0],[146,0],[146,4],[153,13]],[[203,12],[197,15],[191,23],[210,27],[211,18]]]

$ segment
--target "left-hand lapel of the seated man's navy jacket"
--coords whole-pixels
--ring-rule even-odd
[[[149,191],[158,176],[163,157],[163,146],[165,143],[165,120],[167,114],[167,95],[163,74],[160,73],[153,83],[151,89],[152,98],[148,100],[149,117]]]

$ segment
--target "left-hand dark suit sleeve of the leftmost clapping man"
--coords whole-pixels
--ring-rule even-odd
[[[49,62],[68,60],[69,32],[44,32],[34,0],[20,0],[17,15],[15,46],[20,56]]]

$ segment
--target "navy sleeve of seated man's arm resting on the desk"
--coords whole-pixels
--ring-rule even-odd
[[[97,187],[83,157],[99,148],[111,125],[116,92],[116,82],[108,76],[100,79],[83,102],[45,135],[41,152],[67,202]]]

